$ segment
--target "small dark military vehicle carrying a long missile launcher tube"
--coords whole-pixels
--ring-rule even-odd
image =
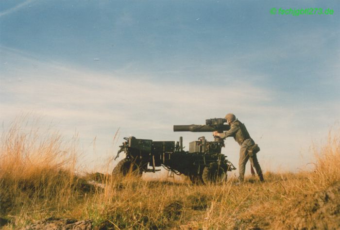
[[[205,125],[174,125],[173,131],[191,132],[223,132],[230,129],[223,118],[212,118],[205,121]],[[171,173],[184,174],[193,183],[221,183],[226,181],[227,172],[235,170],[235,166],[221,154],[224,147],[223,139],[214,137],[214,141],[207,141],[204,136],[189,143],[189,150],[183,150],[183,138],[179,141],[153,141],[125,137],[119,153],[124,152],[125,158],[113,169],[114,177],[126,176],[128,173],[136,176],[143,172],[156,172],[163,166]],[[151,167],[151,168],[149,168]]]

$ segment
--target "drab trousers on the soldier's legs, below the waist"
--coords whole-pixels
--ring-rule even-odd
[[[255,145],[253,139],[244,140],[241,148],[239,150],[239,161],[238,161],[238,172],[239,172],[239,181],[244,180],[244,172],[246,170],[246,164],[248,160],[250,160],[250,164],[255,168],[257,175],[261,178],[262,177],[262,170],[260,164],[258,164],[256,154],[253,157],[249,157],[248,155],[248,148]]]

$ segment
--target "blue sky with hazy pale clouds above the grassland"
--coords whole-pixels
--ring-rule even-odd
[[[279,13],[290,8],[334,13]],[[43,117],[79,134],[89,168],[130,135],[212,140],[172,126],[234,113],[264,170],[297,171],[339,125],[339,88],[339,1],[0,1],[2,131]]]

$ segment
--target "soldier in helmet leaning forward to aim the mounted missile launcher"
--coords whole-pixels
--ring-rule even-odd
[[[246,168],[246,164],[248,159],[250,159],[250,163],[255,167],[256,173],[260,179],[260,181],[264,181],[262,170],[260,164],[258,164],[256,152],[259,151],[258,146],[255,144],[254,140],[250,137],[246,127],[243,123],[241,123],[234,114],[225,115],[225,119],[230,125],[230,130],[224,133],[218,133],[217,131],[213,132],[214,136],[219,136],[220,138],[227,138],[229,136],[234,137],[235,141],[238,142],[240,146],[239,150],[239,181],[243,182],[244,180],[244,172]]]

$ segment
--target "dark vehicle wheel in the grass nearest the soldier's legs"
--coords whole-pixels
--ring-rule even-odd
[[[215,162],[210,163],[209,166],[204,167],[202,179],[205,184],[227,181],[227,168]]]

